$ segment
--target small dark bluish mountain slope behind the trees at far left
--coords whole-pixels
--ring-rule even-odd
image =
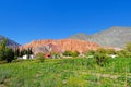
[[[7,37],[0,35],[0,42],[1,42],[4,38],[7,38]],[[9,47],[11,47],[11,48],[15,48],[15,47],[19,47],[19,46],[20,46],[17,42],[15,42],[15,41],[13,41],[13,40],[11,40],[11,39],[9,39],[9,38],[7,38],[7,41],[8,41],[8,42],[7,42],[7,46],[9,46]]]

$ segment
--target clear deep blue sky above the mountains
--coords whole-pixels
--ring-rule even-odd
[[[131,0],[0,0],[0,35],[19,44],[131,26]]]

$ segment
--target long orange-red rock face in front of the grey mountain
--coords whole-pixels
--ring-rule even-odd
[[[76,39],[61,39],[61,40],[37,40],[24,45],[21,49],[33,48],[34,53],[37,52],[64,52],[66,50],[79,51],[80,53],[88,50],[96,50],[99,46],[95,42],[76,40]],[[39,50],[40,49],[40,50]]]

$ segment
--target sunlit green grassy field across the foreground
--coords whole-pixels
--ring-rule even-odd
[[[131,58],[28,60],[0,64],[0,87],[131,87]]]

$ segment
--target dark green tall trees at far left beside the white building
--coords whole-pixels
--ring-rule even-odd
[[[32,49],[23,49],[20,50],[19,48],[12,49],[7,46],[7,39],[3,39],[0,42],[0,61],[7,61],[8,63],[12,62],[12,60],[17,59],[19,57],[23,57],[24,54],[33,54]]]

